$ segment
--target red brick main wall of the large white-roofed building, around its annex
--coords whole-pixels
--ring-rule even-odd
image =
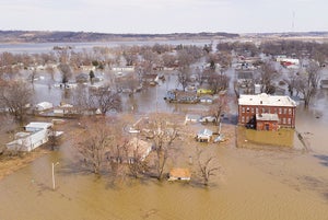
[[[238,124],[246,125],[256,114],[277,114],[281,127],[295,128],[295,106],[239,105]]]

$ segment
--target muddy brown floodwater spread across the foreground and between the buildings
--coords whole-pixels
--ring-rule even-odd
[[[167,79],[160,86],[136,94],[138,113],[156,108],[184,113],[202,105],[171,105],[164,92],[175,84]],[[44,88],[44,89],[43,89]],[[36,83],[50,100],[59,90]],[[56,92],[57,91],[57,92]],[[47,96],[47,93],[43,93]],[[39,97],[42,99],[42,97]],[[126,107],[134,101],[126,97]],[[223,124],[233,135],[223,144],[203,146],[215,155],[220,171],[210,186],[190,183],[159,183],[155,180],[113,182],[79,167],[69,142],[0,181],[2,220],[326,220],[328,219],[328,91],[321,91],[311,107],[297,107],[296,130],[309,150],[291,148],[247,149],[235,147],[235,126]],[[131,102],[131,103],[129,103]],[[232,105],[234,106],[234,105]],[[231,109],[235,114],[235,109]],[[67,134],[69,136],[69,134]],[[295,139],[297,141],[297,139]],[[195,143],[196,144],[196,143]],[[295,144],[298,144],[295,142]],[[189,167],[192,146],[181,142],[177,160],[169,166]],[[52,190],[51,163],[56,189]]]

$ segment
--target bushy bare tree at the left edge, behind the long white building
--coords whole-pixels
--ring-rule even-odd
[[[4,109],[23,121],[26,116],[27,105],[32,102],[32,89],[22,81],[9,81],[0,83],[0,103]]]

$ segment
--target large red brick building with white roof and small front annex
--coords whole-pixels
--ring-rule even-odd
[[[296,103],[285,95],[241,95],[238,124],[258,130],[295,128]]]

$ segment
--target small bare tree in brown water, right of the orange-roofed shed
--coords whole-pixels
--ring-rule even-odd
[[[215,157],[203,154],[203,149],[196,148],[198,174],[202,178],[203,185],[208,186],[210,177],[215,175],[215,173],[220,170],[220,166],[215,164]]]

